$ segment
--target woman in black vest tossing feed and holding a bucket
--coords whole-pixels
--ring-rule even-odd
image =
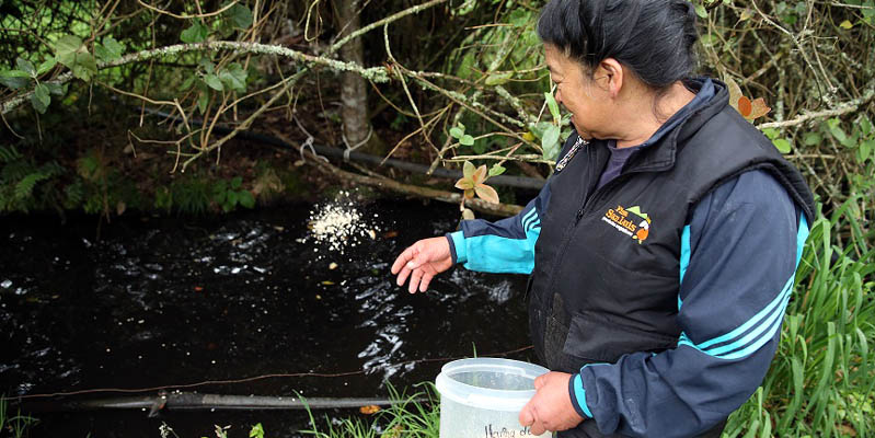
[[[555,173],[518,216],[392,266],[411,292],[456,263],[531,275],[536,435],[718,437],[774,356],[811,195],[725,84],[689,79],[694,26],[687,1],[550,1],[538,34],[576,129]]]

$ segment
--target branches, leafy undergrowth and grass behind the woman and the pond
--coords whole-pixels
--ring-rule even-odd
[[[569,132],[542,5],[2,0],[0,212],[221,214],[339,182],[511,215]],[[820,208],[778,357],[727,435],[868,436],[875,2],[694,7],[699,72]]]

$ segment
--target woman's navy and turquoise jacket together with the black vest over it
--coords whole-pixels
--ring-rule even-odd
[[[718,434],[774,356],[811,194],[714,85],[602,187],[606,142],[573,134],[519,215],[448,235],[468,269],[530,274],[534,348],[589,418],[560,437]]]

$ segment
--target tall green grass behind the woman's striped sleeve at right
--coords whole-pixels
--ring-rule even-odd
[[[832,244],[852,200],[811,224],[796,295],[762,387],[729,419],[726,437],[864,437],[875,434],[875,250]],[[857,234],[861,235],[861,234]],[[863,237],[871,238],[870,237]]]

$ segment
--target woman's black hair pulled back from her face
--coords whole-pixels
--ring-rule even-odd
[[[550,0],[538,36],[586,70],[606,58],[664,90],[695,68],[695,11],[686,0]]]

